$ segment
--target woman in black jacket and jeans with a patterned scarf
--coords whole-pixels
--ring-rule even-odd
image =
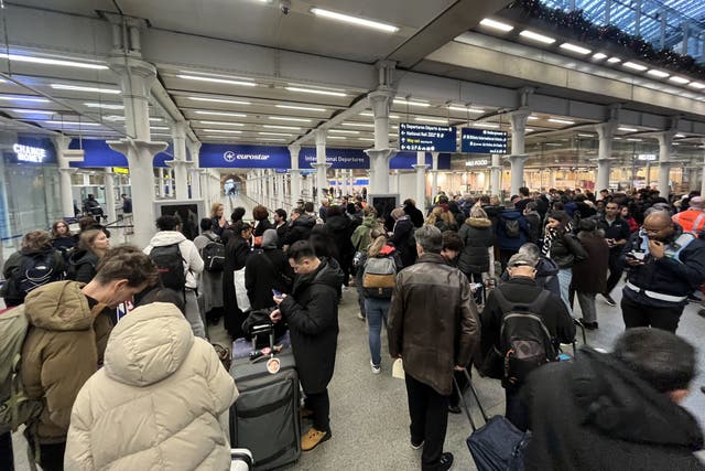
[[[573,312],[570,301],[571,279],[573,278],[573,265],[587,258],[587,251],[577,238],[567,229],[571,220],[564,211],[554,211],[549,215],[549,223],[543,237],[541,254],[558,266],[558,285],[561,286],[561,299],[568,312]]]

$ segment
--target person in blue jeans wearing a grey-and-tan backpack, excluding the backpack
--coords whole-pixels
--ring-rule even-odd
[[[393,245],[387,243],[387,237],[381,235],[370,244],[367,249],[365,263],[360,266],[360,270],[365,271],[365,267],[368,261],[373,258],[387,258],[394,264],[397,272],[401,270],[401,259]],[[362,275],[365,277],[365,275]],[[365,312],[367,314],[367,325],[369,330],[368,341],[370,345],[370,366],[373,374],[379,374],[381,371],[380,364],[382,356],[380,353],[381,341],[380,334],[382,332],[382,325],[387,329],[387,313],[391,306],[392,289],[389,288],[370,288],[364,289],[365,292]]]

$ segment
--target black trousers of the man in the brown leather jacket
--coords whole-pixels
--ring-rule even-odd
[[[421,454],[422,471],[435,470],[448,425],[448,396],[438,394],[431,386],[414,379],[406,373],[406,396],[411,417],[411,441],[424,442]]]

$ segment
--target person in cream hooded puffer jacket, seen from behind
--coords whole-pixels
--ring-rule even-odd
[[[229,470],[218,422],[238,396],[213,346],[155,302],[112,330],[105,366],[78,393],[66,470]]]

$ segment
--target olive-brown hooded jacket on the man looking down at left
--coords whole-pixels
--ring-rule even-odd
[[[110,321],[80,291],[83,283],[56,281],[36,288],[24,301],[30,330],[22,346],[20,375],[31,399],[41,399],[40,443],[66,440],[70,408],[102,358]],[[104,347],[101,347],[104,345]]]

